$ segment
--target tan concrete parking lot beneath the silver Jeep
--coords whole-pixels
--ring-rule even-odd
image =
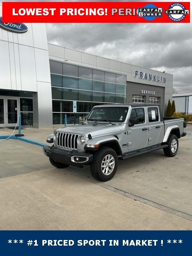
[[[45,142],[53,130],[22,132]],[[159,150],[119,161],[104,183],[92,178],[89,166],[53,168],[40,146],[0,145],[1,230],[192,229],[192,135],[179,140],[174,158]]]

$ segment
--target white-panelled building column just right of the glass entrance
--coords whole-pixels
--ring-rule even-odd
[[[37,82],[37,92],[33,92],[33,127],[52,128],[51,84]]]

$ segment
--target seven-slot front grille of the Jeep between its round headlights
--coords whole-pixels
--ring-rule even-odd
[[[58,132],[57,146],[77,150],[77,134]]]

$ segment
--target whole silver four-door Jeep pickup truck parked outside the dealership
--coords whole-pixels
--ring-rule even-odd
[[[110,180],[118,159],[125,160],[163,149],[178,152],[178,138],[186,136],[183,118],[163,118],[159,104],[109,104],[92,108],[85,124],[59,128],[47,138],[54,145],[43,152],[57,168],[90,165],[92,176]]]

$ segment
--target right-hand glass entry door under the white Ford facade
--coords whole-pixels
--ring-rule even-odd
[[[19,98],[6,98],[6,126],[15,126],[19,114]]]

